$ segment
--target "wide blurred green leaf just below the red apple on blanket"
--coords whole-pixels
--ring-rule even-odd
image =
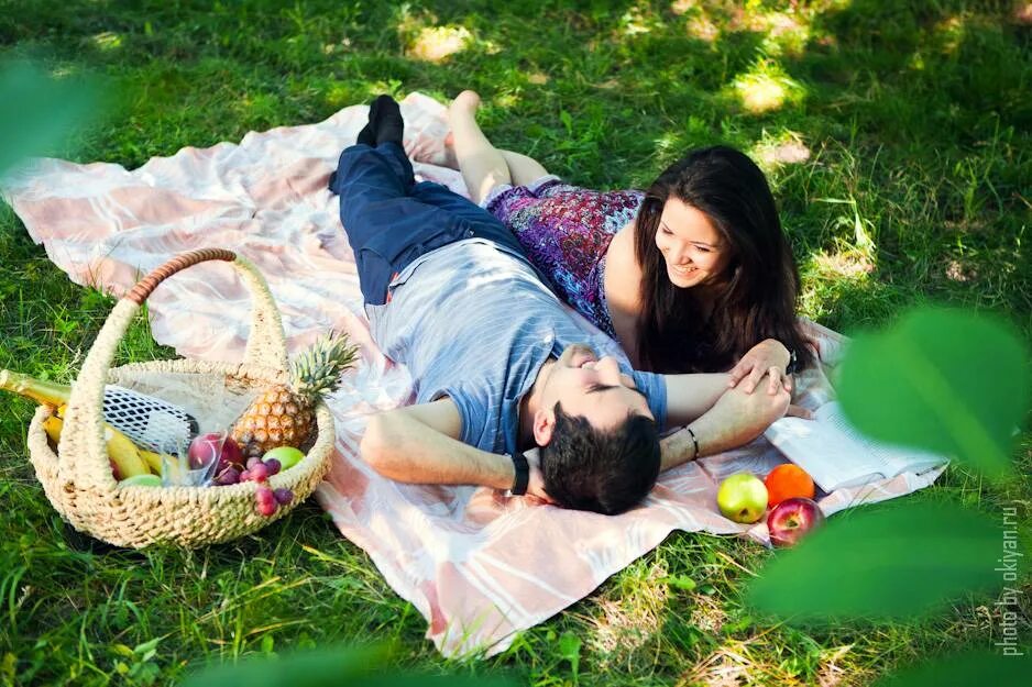
[[[746,589],[750,605],[810,623],[909,620],[1000,587],[1002,535],[959,506],[890,503],[842,513],[780,552]]]

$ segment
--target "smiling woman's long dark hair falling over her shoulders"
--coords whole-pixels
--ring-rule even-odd
[[[656,247],[669,198],[704,213],[729,259],[712,284],[678,288]],[[813,354],[795,320],[799,270],[781,231],[767,178],[745,154],[727,146],[691,152],[646,191],[635,226],[641,267],[640,365],[658,373],[721,372],[765,339]],[[704,306],[703,299],[709,301]]]

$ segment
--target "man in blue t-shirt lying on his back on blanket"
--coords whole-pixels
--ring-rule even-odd
[[[397,103],[377,98],[330,179],[373,339],[416,387],[416,405],[370,419],[361,452],[376,472],[618,513],[661,469],[751,441],[784,414],[780,386],[746,394],[726,375],[632,370],[495,218],[415,184],[403,128]],[[660,446],[661,428],[689,422]]]

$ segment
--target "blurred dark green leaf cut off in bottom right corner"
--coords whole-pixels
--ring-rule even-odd
[[[1023,655],[979,651],[938,658],[882,678],[875,687],[1026,685],[1032,675],[1032,646],[1015,650]]]

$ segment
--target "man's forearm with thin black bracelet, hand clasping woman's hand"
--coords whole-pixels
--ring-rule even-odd
[[[776,395],[746,394],[740,388],[725,388],[713,407],[691,422],[688,429],[679,430],[662,440],[660,470],[677,467],[699,456],[713,455],[747,444],[784,414],[789,399],[788,391],[780,387]]]

